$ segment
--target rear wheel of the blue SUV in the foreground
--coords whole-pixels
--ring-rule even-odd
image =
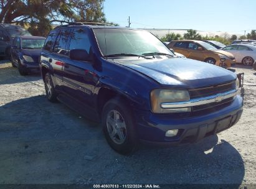
[[[52,77],[50,76],[50,73],[46,73],[44,78],[44,88],[47,99],[51,101],[52,103],[55,103],[57,101],[57,93],[54,88],[54,84],[52,83]]]

